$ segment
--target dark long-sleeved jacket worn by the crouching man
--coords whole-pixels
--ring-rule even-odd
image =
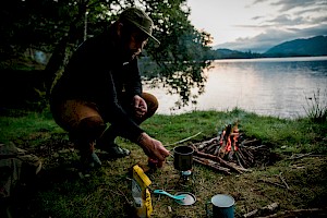
[[[122,90],[129,99],[142,95],[137,59],[123,62],[114,29],[85,40],[74,52],[52,88],[50,104],[66,99],[95,102],[122,136],[135,140],[144,132],[120,106]]]

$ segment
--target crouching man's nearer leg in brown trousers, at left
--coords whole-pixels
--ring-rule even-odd
[[[68,100],[52,108],[56,122],[66,130],[70,140],[80,150],[82,166],[99,167],[101,161],[94,152],[95,141],[106,129],[95,104]]]

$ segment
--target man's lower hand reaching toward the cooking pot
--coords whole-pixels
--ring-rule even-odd
[[[156,161],[159,168],[162,167],[166,157],[170,154],[159,141],[152,138],[146,133],[141,134],[137,144],[152,160]]]

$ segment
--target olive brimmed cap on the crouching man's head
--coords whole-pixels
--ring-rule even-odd
[[[128,8],[120,14],[120,20],[126,20],[140,28],[143,33],[148,35],[155,41],[160,41],[153,36],[154,22],[153,20],[141,9]]]

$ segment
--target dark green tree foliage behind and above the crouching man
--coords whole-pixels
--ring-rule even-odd
[[[209,34],[190,23],[186,0],[10,1],[1,9],[1,60],[31,47],[51,53],[45,71],[46,87],[50,89],[76,46],[106,29],[117,14],[131,5],[149,13],[156,25],[154,34],[161,43],[157,46],[149,41],[146,48],[156,72],[145,72],[145,80],[158,78],[152,83],[167,85],[170,93],[181,95],[180,105],[187,104],[192,87],[198,87],[198,94],[203,92],[203,70],[209,65],[205,59],[211,41]]]

